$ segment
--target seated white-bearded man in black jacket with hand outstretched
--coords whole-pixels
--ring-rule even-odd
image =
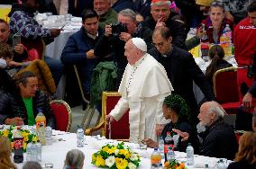
[[[198,133],[203,138],[200,155],[217,158],[233,159],[237,152],[237,142],[233,128],[224,122],[224,109],[217,102],[205,102],[201,105],[198,119],[206,130]],[[173,129],[186,140],[189,135],[178,129]],[[198,131],[198,130],[197,130]]]

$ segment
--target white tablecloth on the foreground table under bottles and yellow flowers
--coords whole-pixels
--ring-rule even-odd
[[[71,149],[80,149],[85,154],[85,162],[84,168],[97,168],[94,165],[91,165],[91,159],[93,153],[95,153],[101,146],[111,142],[113,140],[97,140],[96,138],[86,137],[85,139],[85,147],[77,147],[77,138],[75,133],[64,133],[61,131],[53,130],[53,144],[50,146],[42,147],[42,161],[41,165],[44,166],[45,163],[52,163],[53,168],[60,169],[64,165],[64,160],[66,154]],[[62,139],[62,140],[61,140]],[[137,145],[131,143],[125,143],[127,146],[131,146],[132,148],[137,147]],[[151,168],[151,152],[153,151],[151,148],[147,150],[133,149],[135,152],[139,153],[142,157],[142,163],[140,168],[149,169]],[[182,152],[175,152],[176,157],[180,161],[186,161],[186,154]],[[25,163],[26,154],[24,154],[24,162]],[[195,156],[195,165],[187,166],[190,168],[204,168],[205,164],[208,164],[210,168],[215,168],[215,164],[217,162],[217,158],[206,157],[206,156]],[[17,164],[18,168],[21,169],[23,164]]]

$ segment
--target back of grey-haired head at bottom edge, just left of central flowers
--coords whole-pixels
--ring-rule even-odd
[[[63,169],[82,169],[85,155],[78,149],[72,149],[67,153]]]

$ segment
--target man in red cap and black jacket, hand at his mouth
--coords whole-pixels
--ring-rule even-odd
[[[169,0],[152,0],[151,16],[142,22],[141,31],[149,31],[149,35],[152,35],[155,28],[166,26],[171,31],[172,43],[181,49],[186,49],[185,40],[187,34],[185,32],[185,26],[182,22],[171,19],[176,13],[170,11],[169,5]],[[148,42],[147,44],[149,45]]]

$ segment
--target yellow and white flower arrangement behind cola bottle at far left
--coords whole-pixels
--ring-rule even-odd
[[[32,134],[32,132],[28,129],[20,129],[23,135],[23,151],[26,151],[27,144],[31,142],[37,142],[38,137],[36,134]],[[0,130],[0,136],[4,136],[9,138],[11,142],[12,150],[14,150],[14,133],[17,132],[17,127],[11,125],[9,129]]]

